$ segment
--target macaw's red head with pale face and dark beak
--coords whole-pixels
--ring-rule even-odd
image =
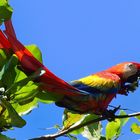
[[[140,77],[140,63],[124,62],[106,71],[117,74],[125,82],[134,82]]]

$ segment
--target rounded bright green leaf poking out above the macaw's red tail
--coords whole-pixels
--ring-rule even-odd
[[[26,48],[33,54],[33,56],[42,63],[42,53],[40,51],[40,49],[32,44],[32,45],[28,45],[26,46]]]

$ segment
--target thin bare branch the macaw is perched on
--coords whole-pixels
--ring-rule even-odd
[[[132,113],[132,114],[127,114],[127,115],[115,115],[112,119],[116,119],[116,118],[131,118],[131,117],[136,117],[136,116],[140,116],[140,112],[136,112],[136,113]],[[57,133],[55,134],[51,134],[51,135],[44,135],[44,136],[41,136],[41,137],[38,137],[38,138],[33,138],[33,139],[30,139],[30,140],[55,140],[55,138],[57,137],[60,137],[60,136],[63,136],[65,134],[68,134],[74,130],[77,130],[77,129],[80,129],[84,126],[87,126],[89,124],[92,124],[92,123],[96,123],[96,122],[99,122],[99,121],[103,121],[103,120],[106,120],[106,119],[110,119],[110,117],[107,117],[107,116],[102,116],[102,117],[99,117],[97,119],[93,119],[93,120],[90,120],[88,122],[85,122],[83,124],[79,124],[77,126],[71,126],[67,129],[62,129],[60,131],[58,131]]]

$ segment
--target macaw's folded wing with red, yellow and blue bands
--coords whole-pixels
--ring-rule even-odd
[[[72,81],[70,85],[90,94],[113,94],[120,89],[121,81],[117,75],[103,71]]]

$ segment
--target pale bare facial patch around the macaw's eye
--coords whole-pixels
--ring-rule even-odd
[[[137,73],[137,67],[133,63],[128,63],[124,66],[124,79]]]

